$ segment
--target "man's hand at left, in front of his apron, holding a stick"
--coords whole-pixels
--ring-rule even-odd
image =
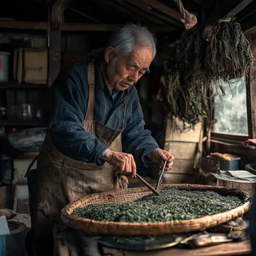
[[[103,156],[103,160],[109,165],[115,166],[121,174],[131,174],[132,177],[135,177],[136,164],[131,154],[109,150]]]

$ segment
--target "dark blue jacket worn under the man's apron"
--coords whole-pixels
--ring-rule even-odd
[[[87,64],[67,67],[58,74],[52,85],[48,109],[48,129],[57,150],[72,159],[103,165],[106,145],[86,132],[83,121],[88,103]],[[144,129],[143,114],[134,86],[110,94],[95,62],[94,120],[112,129],[127,127],[122,132],[123,151],[132,153],[135,161],[150,165],[147,153],[158,148],[149,130]],[[127,103],[124,115],[124,103]]]

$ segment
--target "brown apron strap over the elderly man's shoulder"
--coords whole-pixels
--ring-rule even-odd
[[[84,126],[87,131],[91,131],[91,127],[94,121],[94,102],[95,102],[95,75],[94,75],[94,62],[90,61],[88,64],[88,85],[89,85],[89,97],[87,111],[85,114]]]

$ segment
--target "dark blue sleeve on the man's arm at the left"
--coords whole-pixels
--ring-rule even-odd
[[[101,158],[107,147],[83,127],[88,100],[88,85],[82,85],[83,79],[70,69],[58,75],[50,97],[49,135],[65,156],[103,165]]]

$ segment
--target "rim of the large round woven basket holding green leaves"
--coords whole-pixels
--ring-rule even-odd
[[[249,207],[251,205],[251,198],[252,196],[247,193],[244,192],[240,189],[230,189],[230,188],[226,188],[224,186],[210,186],[210,185],[196,185],[196,184],[162,184],[160,186],[160,188],[163,188],[165,186],[170,186],[170,187],[174,187],[175,189],[184,189],[184,190],[211,190],[214,192],[225,192],[228,193],[229,195],[231,194],[236,194],[236,196],[238,196],[239,198],[243,199],[243,204],[241,204],[239,207],[236,207],[234,209],[222,212],[222,213],[216,213],[213,215],[208,215],[208,216],[202,216],[200,218],[196,218],[196,219],[185,219],[185,220],[175,220],[175,221],[168,221],[168,222],[106,222],[106,221],[98,221],[98,220],[94,220],[94,219],[86,219],[86,218],[82,218],[79,216],[73,216],[71,215],[73,213],[73,210],[75,210],[77,207],[85,207],[85,201],[87,198],[91,198],[91,197],[100,197],[100,195],[112,195],[114,193],[116,193],[116,195],[121,195],[121,194],[125,194],[125,192],[129,192],[132,194],[132,192],[138,192],[139,190],[143,190],[143,192],[150,192],[149,189],[147,189],[147,187],[135,187],[135,188],[130,188],[130,189],[119,189],[119,190],[115,190],[115,191],[109,191],[109,192],[101,192],[101,193],[96,193],[96,194],[91,194],[91,195],[87,195],[84,198],[79,198],[76,201],[71,202],[70,204],[67,204],[66,207],[64,207],[61,210],[61,219],[64,221],[64,223],[66,225],[70,225],[71,223],[69,222],[69,220],[73,220],[73,222],[76,223],[89,223],[90,225],[108,225],[108,226],[119,226],[119,227],[127,227],[129,226],[130,228],[138,228],[138,227],[159,227],[159,225],[168,225],[168,226],[175,226],[175,225],[192,225],[193,223],[196,222],[204,222],[205,220],[207,220],[207,222],[210,222],[211,219],[222,219],[222,216],[232,216],[233,214],[237,213],[237,212],[243,212],[246,213],[249,210]],[[76,206],[76,208],[72,207]],[[222,222],[224,223],[224,222]],[[71,224],[72,228],[78,228],[79,227],[74,227],[73,224]]]

